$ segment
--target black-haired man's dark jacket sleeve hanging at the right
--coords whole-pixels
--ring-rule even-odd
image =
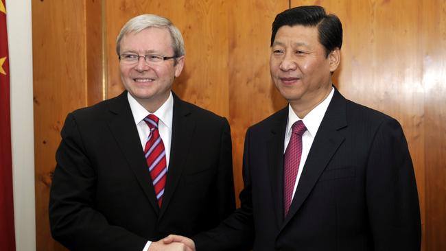
[[[375,250],[420,250],[414,168],[395,119],[383,121],[375,134],[367,163],[366,202]]]

